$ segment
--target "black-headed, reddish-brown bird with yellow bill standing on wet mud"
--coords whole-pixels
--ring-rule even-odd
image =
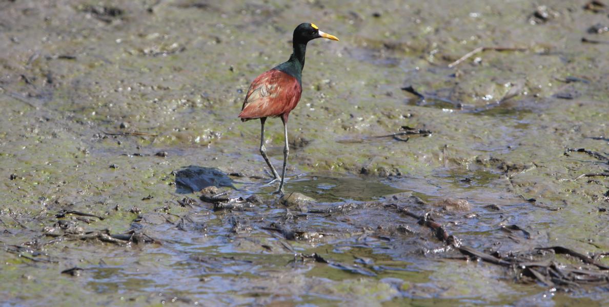
[[[283,133],[285,144],[283,148],[283,171],[281,172],[281,182],[279,189],[275,192],[284,193],[283,185],[286,178],[287,156],[289,146],[287,145],[287,117],[290,114],[302,94],[302,72],[305,67],[306,45],[315,38],[327,38],[328,40],[338,41],[339,39],[331,34],[324,33],[313,23],[301,23],[294,29],[292,36],[292,55],[289,60],[281,63],[269,71],[263,72],[252,81],[252,85],[245,95],[243,106],[239,118],[242,122],[252,119],[260,119],[260,154],[264,161],[269,165],[270,171],[275,182],[279,174],[275,167],[270,163],[264,147],[264,123],[267,117],[280,117],[283,123]]]

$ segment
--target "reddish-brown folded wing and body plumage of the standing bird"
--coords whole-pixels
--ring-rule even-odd
[[[301,93],[302,87],[296,78],[271,69],[252,82],[239,117],[245,121],[261,117],[287,116],[296,108]]]

